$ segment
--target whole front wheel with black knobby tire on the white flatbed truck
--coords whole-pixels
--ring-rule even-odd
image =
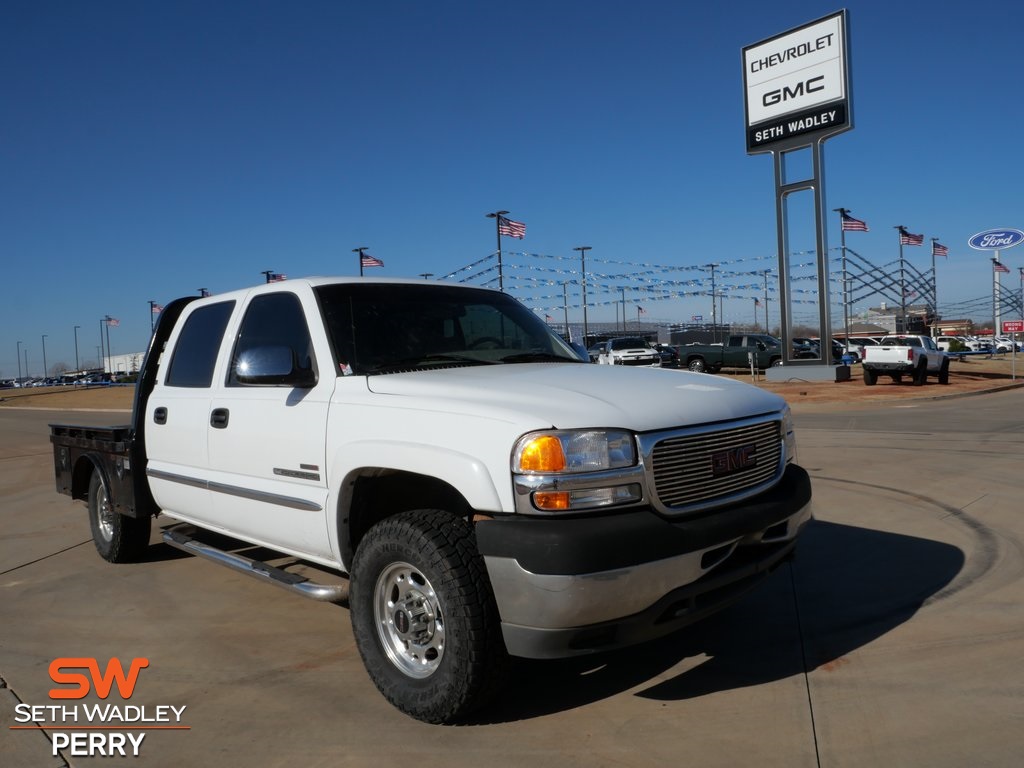
[[[407,715],[457,722],[501,687],[498,606],[465,519],[417,510],[374,525],[352,561],[349,605],[367,672]]]

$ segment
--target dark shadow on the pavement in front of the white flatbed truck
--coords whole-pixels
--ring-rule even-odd
[[[627,691],[678,701],[829,671],[966,586],[950,589],[965,563],[949,544],[813,521],[796,560],[732,607],[634,648],[517,660],[515,682],[474,723],[530,719]]]

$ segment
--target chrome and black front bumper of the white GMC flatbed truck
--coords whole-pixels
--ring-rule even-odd
[[[667,635],[731,604],[796,548],[811,519],[807,473],[696,518],[649,510],[477,525],[512,655],[556,658]]]

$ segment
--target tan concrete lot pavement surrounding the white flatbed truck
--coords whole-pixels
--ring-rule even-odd
[[[795,562],[664,641],[522,663],[445,727],[377,693],[343,607],[163,544],[102,561],[46,425],[126,415],[0,410],[0,766],[112,760],[54,755],[17,708],[52,703],[53,659],[143,656],[132,703],[184,710],[134,731],[139,766],[1019,765],[1024,392],[796,417],[816,520]]]

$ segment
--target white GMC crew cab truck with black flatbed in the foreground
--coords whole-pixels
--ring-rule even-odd
[[[483,706],[510,656],[722,608],[811,518],[777,396],[587,365],[514,298],[425,281],[174,301],[131,423],[51,431],[100,556],[142,558],[160,516],[171,546],[347,603],[374,683],[428,722]]]

